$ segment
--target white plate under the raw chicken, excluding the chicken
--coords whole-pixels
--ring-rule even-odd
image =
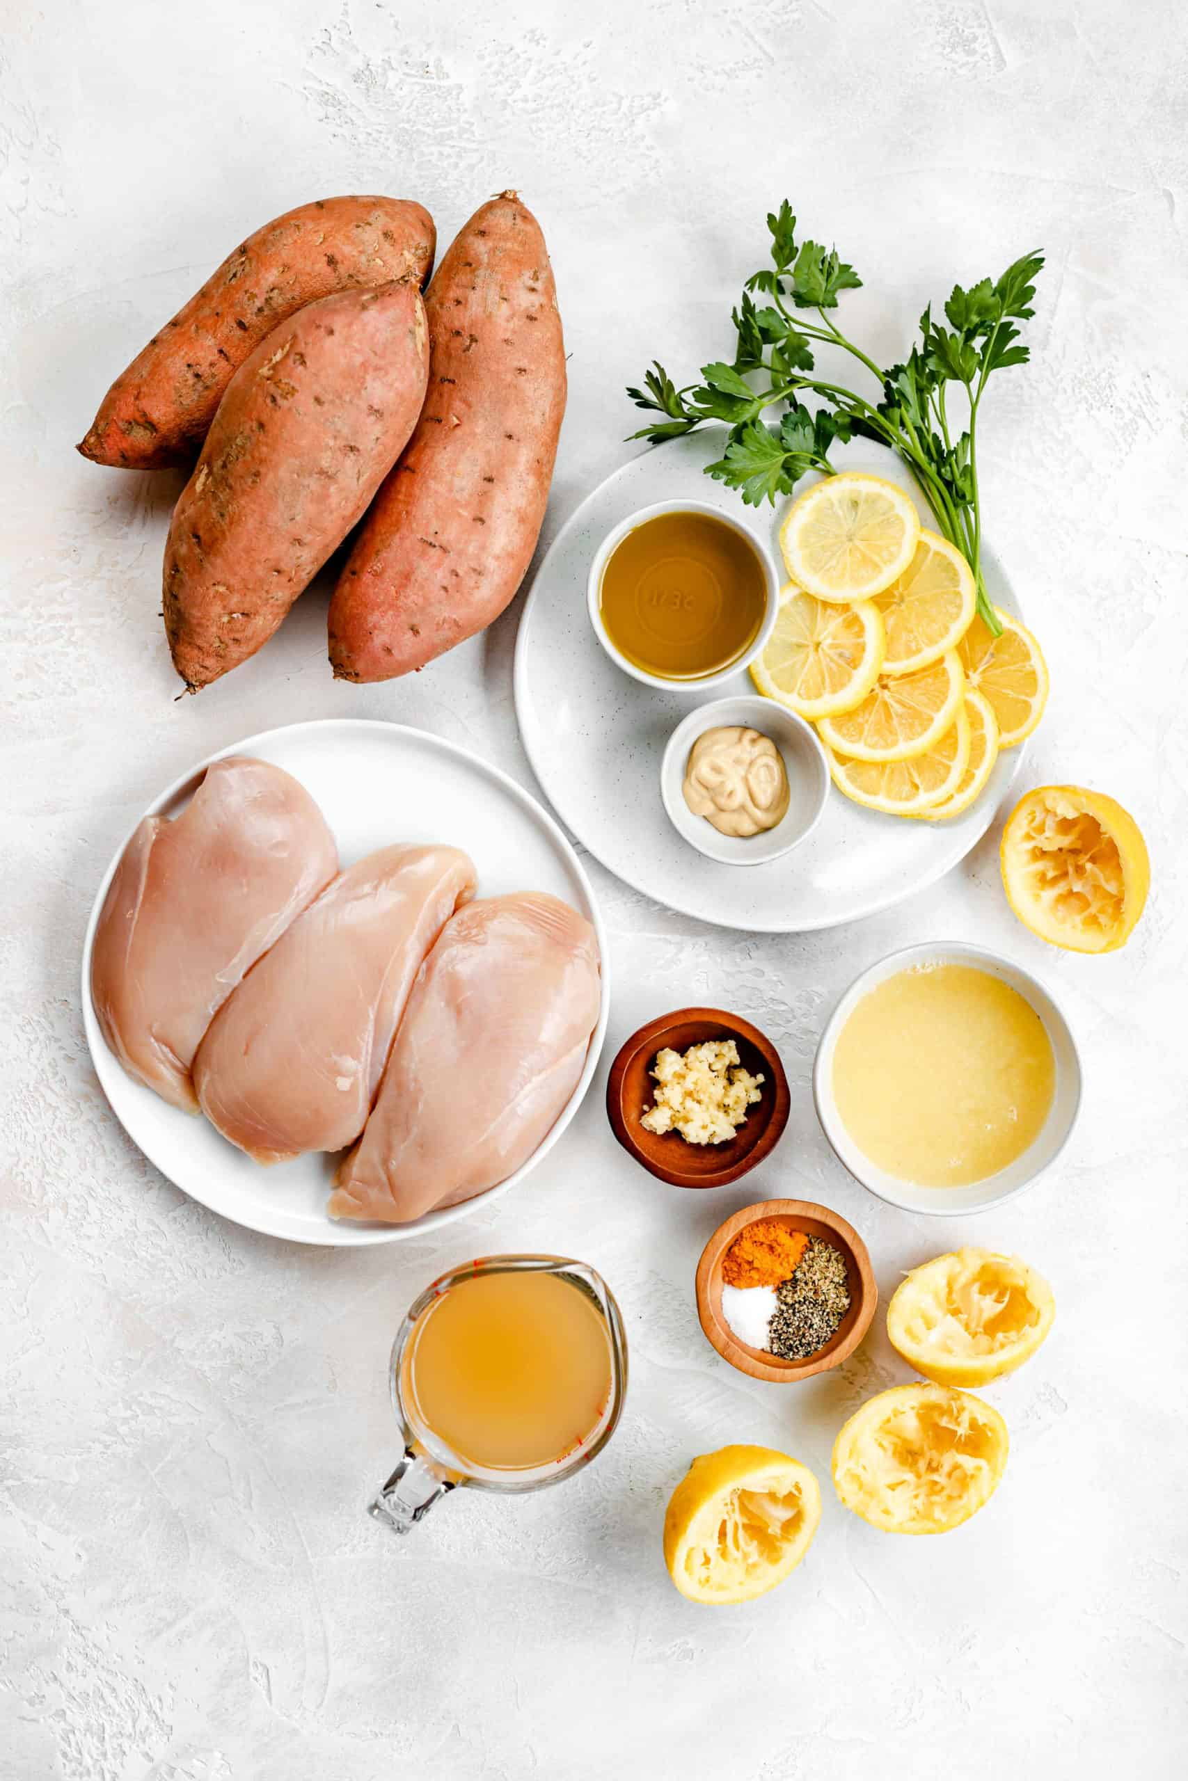
[[[183,778],[175,780],[160,798],[153,800],[144,816],[176,816],[210,762],[223,755],[255,755],[301,780],[321,805],[344,866],[394,841],[447,841],[465,848],[474,858],[479,896],[552,890],[579,908],[593,923],[602,953],[602,1010],[590,1042],[586,1069],[538,1151],[490,1193],[445,1211],[426,1213],[424,1218],[406,1225],[340,1224],[328,1218],[331,1158],[301,1156],[292,1163],[262,1168],[221,1138],[205,1118],[167,1106],[150,1088],[125,1076],[107,1049],[91,1006],[91,946],[125,841],[103,874],[82,949],[87,1044],[116,1118],[150,1163],[155,1163],[183,1193],[265,1236],[281,1236],[294,1243],[358,1247],[424,1236],[456,1218],[465,1218],[476,1206],[484,1206],[493,1195],[513,1188],[552,1149],[574,1118],[598,1061],[611,1001],[607,946],[590,880],[577,855],[552,817],[499,768],[424,730],[362,718],[294,723],[281,730],[249,736],[233,748],[221,748],[219,753],[199,760]]]

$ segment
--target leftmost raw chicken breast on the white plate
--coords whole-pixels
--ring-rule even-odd
[[[94,1012],[128,1076],[196,1111],[191,1063],[210,1021],[337,871],[326,817],[267,760],[216,760],[182,816],[146,816],[91,953]]]

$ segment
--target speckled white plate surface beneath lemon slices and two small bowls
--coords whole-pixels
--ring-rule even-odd
[[[557,534],[524,607],[515,655],[520,736],[561,819],[613,873],[684,915],[755,933],[803,933],[873,915],[923,890],[981,839],[1010,789],[1022,750],[1003,753],[971,810],[951,823],[912,823],[864,810],[830,787],[812,835],[782,860],[741,871],[691,848],[661,805],[659,764],[679,720],[698,703],[752,693],[739,673],[712,691],[661,693],[622,673],[598,647],[586,613],[586,577],[604,534],[657,500],[689,497],[732,518],[780,557],[775,509],[745,508],[741,495],[702,474],[721,456],[723,429],[689,433],[652,447],[602,483]],[[907,488],[924,525],[935,520],[912,477],[887,447],[853,440],[837,449],[844,470],[873,470]],[[816,477],[798,484],[807,488]],[[997,557],[983,545],[983,573],[996,606],[1019,613]]]

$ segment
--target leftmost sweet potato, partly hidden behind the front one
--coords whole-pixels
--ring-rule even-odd
[[[235,370],[335,290],[433,271],[433,217],[406,198],[321,198],[249,235],[112,383],[78,451],[123,470],[189,468]]]

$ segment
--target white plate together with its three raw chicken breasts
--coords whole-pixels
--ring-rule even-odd
[[[574,848],[424,730],[265,730],[169,785],[112,860],[82,956],[128,1136],[212,1211],[387,1243],[506,1193],[557,1142],[609,1012]]]

